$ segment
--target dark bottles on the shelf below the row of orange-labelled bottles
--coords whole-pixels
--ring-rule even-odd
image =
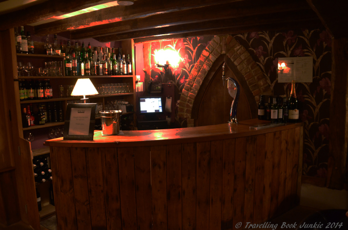
[[[32,104],[22,110],[22,125],[23,128],[28,128],[34,125],[45,125],[48,122],[63,122],[62,102],[58,107],[56,103],[41,104],[37,106],[37,112],[34,113]]]

